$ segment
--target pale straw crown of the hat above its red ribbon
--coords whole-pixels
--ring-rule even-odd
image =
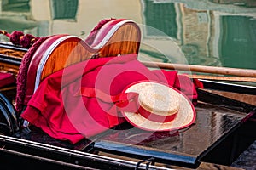
[[[179,110],[177,92],[160,83],[152,83],[139,92],[138,102],[143,109],[160,116],[171,116]]]

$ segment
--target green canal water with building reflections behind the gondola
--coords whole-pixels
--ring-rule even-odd
[[[0,0],[0,29],[36,37],[85,38],[110,18],[140,26],[139,59],[256,69],[255,0]],[[242,164],[241,158],[234,166]]]

